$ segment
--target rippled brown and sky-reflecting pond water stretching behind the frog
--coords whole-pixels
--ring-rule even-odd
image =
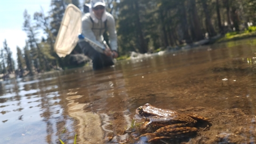
[[[0,141],[72,143],[78,133],[82,143],[122,142],[135,109],[145,103],[173,110],[239,108],[255,115],[255,43],[229,42],[120,61],[101,71],[79,68],[1,82]]]

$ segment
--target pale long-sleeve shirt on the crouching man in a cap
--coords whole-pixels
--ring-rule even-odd
[[[115,28],[115,19],[113,15],[106,12],[107,25],[105,28],[105,21],[101,19],[93,22],[90,18],[91,13],[85,13],[82,18],[82,34],[91,41],[103,45],[103,33],[105,30],[109,33],[109,41],[111,50],[117,51],[117,34]],[[79,40],[83,41],[83,40]],[[94,46],[93,46],[94,47]]]

